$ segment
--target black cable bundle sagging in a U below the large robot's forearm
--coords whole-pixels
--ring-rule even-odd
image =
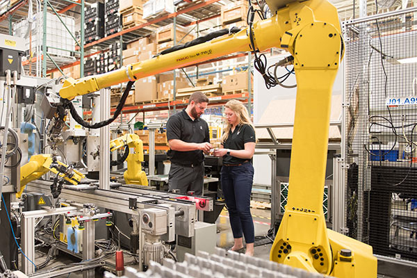
[[[117,117],[119,117],[120,113],[122,113],[124,103],[126,102],[126,99],[129,96],[129,91],[131,90],[133,83],[134,83],[133,81],[129,81],[127,83],[126,89],[124,89],[122,98],[120,99],[119,104],[117,104],[116,111],[115,111],[113,117],[109,118],[108,120],[104,120],[102,122],[96,122],[95,124],[90,124],[89,122],[85,122],[83,120],[83,117],[81,117],[76,112],[74,104],[72,104],[72,102],[70,100],[62,99],[62,101],[65,104],[65,107],[70,109],[70,113],[71,113],[72,117],[74,118],[74,120],[76,122],[78,122],[79,124],[81,124],[81,126],[84,126],[87,129],[99,129],[103,126],[106,126],[106,125],[111,124],[112,122],[114,122],[114,120],[116,120]]]

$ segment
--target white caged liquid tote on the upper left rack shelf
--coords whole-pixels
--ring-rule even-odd
[[[43,33],[42,28],[40,28],[40,32],[38,31],[37,23],[43,24],[43,13],[36,14],[33,16],[33,24],[32,24],[32,42],[27,36],[25,38],[25,49],[27,51],[27,55],[29,55],[29,48],[30,44],[32,44],[32,55],[36,56],[36,45],[37,42],[42,45],[43,44]],[[63,20],[67,28],[71,31],[71,33],[75,33],[75,20],[74,17],[69,17],[67,15],[60,15],[60,19]],[[54,13],[47,13],[47,28],[46,28],[46,35],[47,35],[47,49],[49,55],[56,55],[60,57],[74,59],[75,51],[75,41],[68,33],[67,29],[65,28],[64,24],[60,22],[60,19]],[[20,22],[13,24],[13,35],[24,38],[26,32],[28,31],[28,21],[24,19]],[[51,47],[56,47],[51,48]],[[68,51],[61,50],[67,49]],[[42,49],[41,49],[42,51]]]

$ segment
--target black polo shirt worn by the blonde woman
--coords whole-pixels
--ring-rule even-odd
[[[226,142],[224,142],[224,149],[245,149],[245,143],[256,142],[255,131],[249,124],[238,125],[234,131],[229,131]],[[223,156],[223,164],[239,164],[247,161],[246,158],[237,158],[225,154]]]

